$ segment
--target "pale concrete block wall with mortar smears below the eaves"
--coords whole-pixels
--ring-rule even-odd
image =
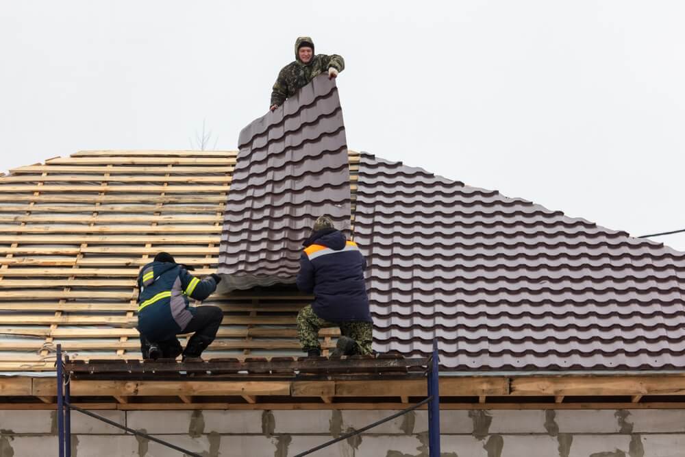
[[[393,414],[387,410],[96,411],[205,457],[288,457]],[[685,410],[443,410],[442,457],[683,457]],[[72,455],[180,454],[72,412]],[[423,457],[427,412],[312,454]],[[56,456],[47,410],[0,410],[0,457]]]

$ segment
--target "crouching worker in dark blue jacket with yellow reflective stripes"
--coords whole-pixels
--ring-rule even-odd
[[[202,351],[214,341],[223,311],[216,306],[190,307],[189,298],[203,300],[209,297],[221,277],[212,273],[203,280],[188,273],[192,267],[177,264],[166,252],[138,273],[138,332],[140,351],[145,359],[199,358]],[[195,332],[186,349],[177,334]]]

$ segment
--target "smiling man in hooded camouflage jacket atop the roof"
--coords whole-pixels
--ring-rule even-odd
[[[278,73],[271,92],[271,111],[275,110],[297,93],[297,90],[309,84],[320,75],[328,73],[329,78],[338,76],[345,69],[345,60],[340,55],[314,55],[314,41],[308,36],[295,40],[295,62],[283,67]]]

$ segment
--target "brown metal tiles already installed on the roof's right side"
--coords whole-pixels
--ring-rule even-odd
[[[685,254],[362,154],[374,349],[448,369],[685,368]]]

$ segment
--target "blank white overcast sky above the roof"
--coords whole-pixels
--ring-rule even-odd
[[[5,1],[0,169],[216,149],[300,35],[339,53],[351,149],[640,235],[685,228],[685,2]],[[652,238],[685,250],[685,235]]]

